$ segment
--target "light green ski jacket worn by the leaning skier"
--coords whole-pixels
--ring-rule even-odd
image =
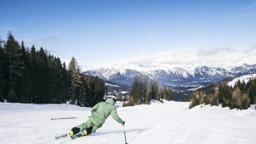
[[[92,107],[92,116],[95,121],[101,125],[105,123],[105,120],[111,114],[112,118],[118,123],[122,123],[122,119],[118,116],[116,112],[116,106],[114,106],[114,100],[109,98],[106,102],[99,102],[94,107]]]

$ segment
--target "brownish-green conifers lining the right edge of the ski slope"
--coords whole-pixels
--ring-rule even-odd
[[[214,93],[205,93],[205,91],[196,91],[190,98],[190,108],[199,104],[211,104],[211,106],[229,107],[246,110],[250,108],[250,104],[256,104],[256,79],[250,79],[249,82],[238,82],[234,88],[221,84],[216,88]]]

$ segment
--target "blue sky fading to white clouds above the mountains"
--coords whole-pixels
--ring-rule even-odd
[[[256,62],[255,0],[1,0],[10,30],[68,63]]]

